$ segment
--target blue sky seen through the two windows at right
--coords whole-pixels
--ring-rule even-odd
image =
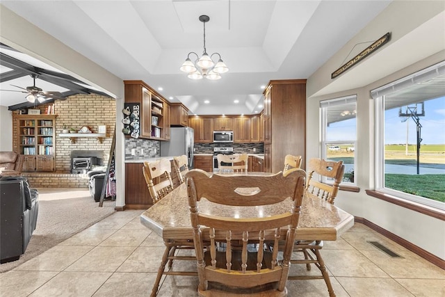
[[[425,116],[419,117],[421,144],[445,144],[445,97],[428,100],[424,104]],[[398,116],[399,109],[385,111],[385,144],[416,144],[416,123]],[[405,120],[405,121],[403,121]],[[327,141],[354,141],[356,119],[334,122],[327,127]],[[408,127],[407,127],[408,126]]]

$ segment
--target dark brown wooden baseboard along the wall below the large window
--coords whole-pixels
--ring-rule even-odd
[[[382,234],[383,236],[387,237],[388,239],[391,239],[391,241],[394,241],[404,248],[407,248],[408,250],[414,252],[416,255],[419,255],[423,259],[426,259],[428,262],[431,262],[432,264],[435,264],[436,266],[439,266],[442,269],[445,269],[445,260],[437,257],[436,255],[432,255],[430,252],[427,252],[426,250],[423,250],[423,248],[419,248],[419,246],[416,246],[413,243],[410,243],[410,241],[407,241],[403,239],[400,236],[397,236],[394,233],[389,232],[388,230],[383,229],[382,227],[375,225],[369,220],[366,220],[366,218],[361,218],[358,216],[354,217],[355,223],[362,223],[363,225],[366,225],[367,227],[370,227],[375,232],[378,232]]]

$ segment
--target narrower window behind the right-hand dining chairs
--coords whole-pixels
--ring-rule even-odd
[[[323,131],[321,155],[331,161],[343,160],[343,183],[356,184],[355,147],[357,96],[351,95],[320,102]],[[329,182],[329,181],[326,181]]]

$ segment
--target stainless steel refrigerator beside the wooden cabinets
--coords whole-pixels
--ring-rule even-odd
[[[188,168],[193,168],[193,128],[172,127],[170,128],[170,141],[161,141],[161,156],[188,157]]]

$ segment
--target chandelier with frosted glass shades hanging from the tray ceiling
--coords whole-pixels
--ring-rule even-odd
[[[229,71],[229,68],[221,60],[221,55],[213,53],[209,56],[206,50],[206,23],[209,22],[210,17],[208,15],[201,15],[200,21],[204,24],[204,51],[202,56],[198,56],[194,51],[188,53],[186,61],[179,68],[181,71],[188,73],[189,79],[206,79],[216,80],[221,78],[221,74]],[[190,55],[196,56],[195,61],[191,61]],[[218,62],[215,63],[211,57],[218,55]]]

